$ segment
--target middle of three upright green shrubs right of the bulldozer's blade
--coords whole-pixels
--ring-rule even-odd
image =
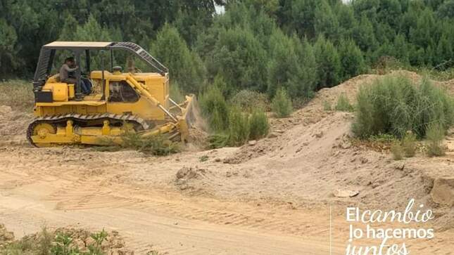
[[[229,112],[229,145],[239,146],[248,141],[249,117],[239,107],[232,107]]]

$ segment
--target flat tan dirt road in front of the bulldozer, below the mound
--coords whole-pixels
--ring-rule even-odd
[[[164,161],[172,165],[189,155]],[[10,147],[0,150],[0,159],[0,219],[18,237],[43,225],[70,226],[118,230],[136,254],[329,254],[328,204],[185,194],[175,171],[147,174],[153,185],[137,176],[132,182],[130,176],[156,160],[137,152]],[[345,254],[344,209],[332,207],[332,254]],[[412,249],[448,254],[453,237],[453,231],[437,233],[435,241],[413,242]]]

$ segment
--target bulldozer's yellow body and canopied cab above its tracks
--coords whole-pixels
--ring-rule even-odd
[[[63,65],[53,63],[58,52],[62,51],[73,55],[75,63],[79,66],[75,70],[74,84],[61,81],[58,70],[52,72],[53,66]],[[133,70],[131,67],[115,67],[114,51],[134,55],[154,72],[141,73],[134,67]],[[97,55],[97,68],[93,68],[93,54]],[[123,69],[129,69],[130,72],[122,72]],[[82,79],[89,81],[93,86],[93,92],[89,95],[82,93]],[[100,111],[117,114],[130,112],[144,119],[163,120],[166,117],[163,109],[149,110],[150,107],[147,105],[151,99],[151,108],[157,104],[163,105],[164,108],[169,106],[168,68],[144,48],[129,42],[54,41],[46,44],[39,55],[33,84],[37,116],[74,111],[75,107],[64,107],[65,105],[84,105],[85,107],[80,107],[81,109],[76,111],[80,114]],[[143,95],[141,89],[145,89],[150,95]]]

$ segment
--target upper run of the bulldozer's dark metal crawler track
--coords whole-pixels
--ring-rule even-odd
[[[56,126],[59,123],[65,123],[68,120],[72,120],[75,122],[75,126],[77,124],[82,124],[86,122],[96,122],[101,120],[108,120],[109,122],[129,122],[134,124],[134,129],[137,131],[142,131],[150,128],[150,125],[145,122],[144,119],[137,117],[135,115],[125,114],[125,115],[115,115],[111,113],[103,113],[103,114],[96,114],[96,115],[80,115],[76,113],[69,113],[66,115],[48,115],[44,117],[37,117],[33,120],[27,128],[27,140],[30,144],[37,146],[33,143],[32,134],[33,129],[37,124],[40,123],[47,123]]]

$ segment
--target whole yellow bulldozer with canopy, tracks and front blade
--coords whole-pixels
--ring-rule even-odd
[[[78,65],[73,84],[52,73],[60,51],[70,52]],[[122,72],[122,67],[113,66],[114,51],[126,51],[153,72],[137,72],[135,67]],[[100,70],[90,70],[94,54],[101,56]],[[110,55],[108,67],[103,55]],[[89,93],[82,93],[84,81],[92,86]],[[27,129],[27,140],[37,147],[106,145],[106,140],[121,144],[126,132],[134,132],[187,141],[194,96],[176,103],[169,91],[168,68],[137,44],[54,41],[42,46],[39,54],[33,81],[35,119]]]

